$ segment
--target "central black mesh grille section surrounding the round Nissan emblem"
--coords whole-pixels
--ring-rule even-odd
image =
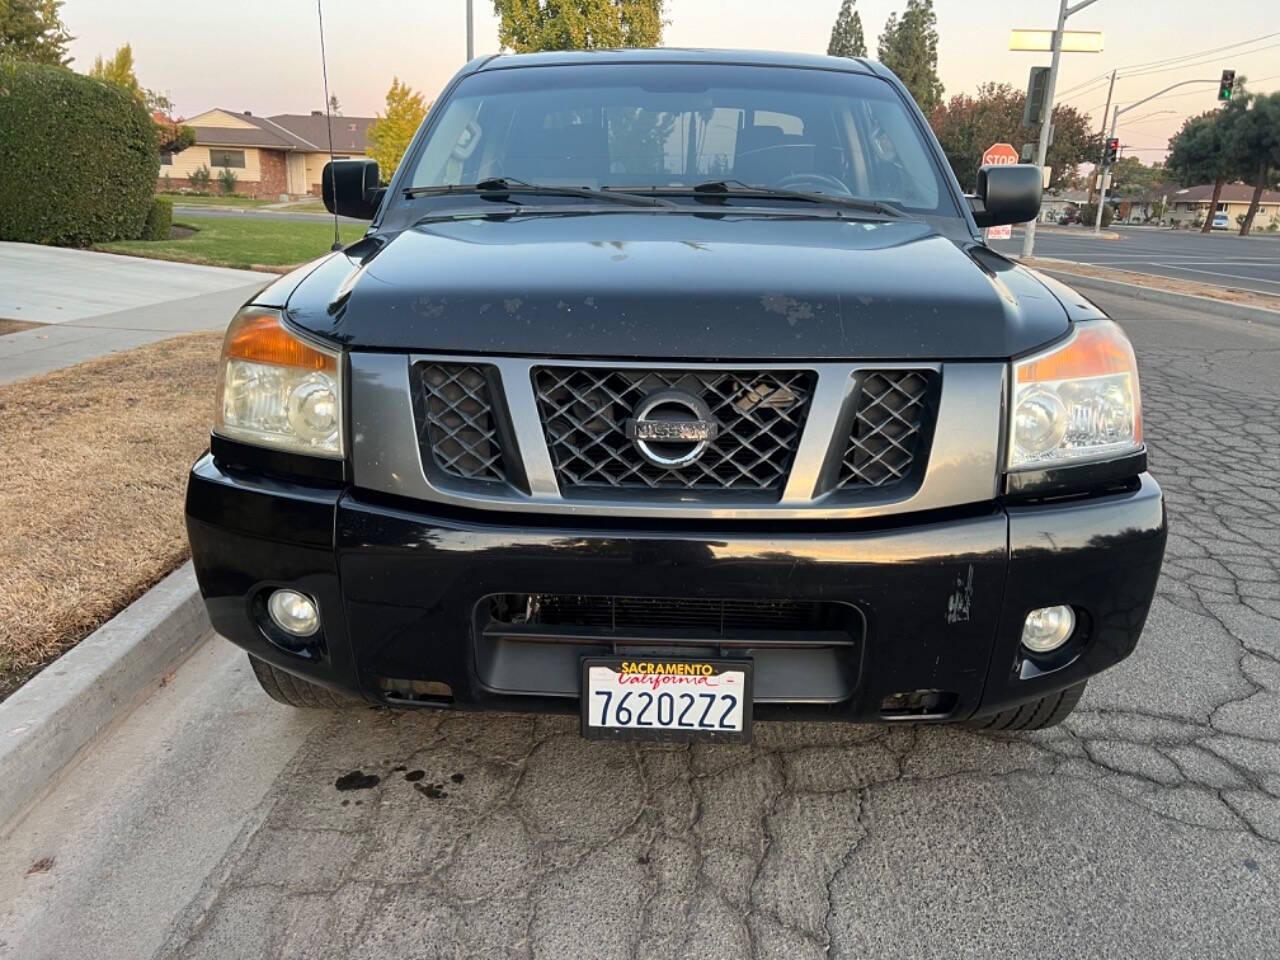
[[[781,492],[813,396],[806,370],[644,370],[543,366],[538,411],[562,492],[580,488]],[[719,430],[692,463],[645,460],[626,421],[646,397],[699,397]]]

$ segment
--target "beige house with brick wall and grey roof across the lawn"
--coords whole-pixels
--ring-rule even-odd
[[[362,159],[369,150],[372,116],[333,116],[333,152],[339,160]],[[160,189],[188,189],[191,173],[207,166],[210,188],[218,174],[236,174],[236,192],[251,197],[320,195],[320,173],[329,163],[329,131],[323,110],[310,114],[255,116],[215,108],[183,122],[196,142],[160,155]]]

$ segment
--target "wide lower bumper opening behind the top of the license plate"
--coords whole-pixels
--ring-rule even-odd
[[[846,603],[495,594],[476,605],[480,681],[504,694],[580,695],[584,657],[755,663],[756,703],[840,703],[864,635]]]

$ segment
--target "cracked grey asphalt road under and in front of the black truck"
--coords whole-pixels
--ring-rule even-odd
[[[1065,726],[586,742],[294,713],[214,641],[0,840],[0,956],[1275,956],[1280,328],[1097,300],[1171,535]]]

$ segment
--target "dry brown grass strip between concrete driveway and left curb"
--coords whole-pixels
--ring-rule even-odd
[[[187,557],[220,334],[0,387],[0,699]]]

